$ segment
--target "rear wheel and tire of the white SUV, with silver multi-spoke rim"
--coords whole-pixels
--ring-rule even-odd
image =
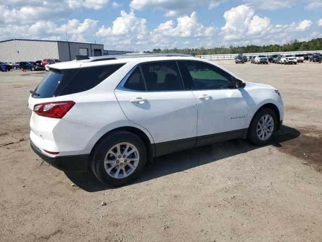
[[[127,145],[129,145],[127,150],[135,147],[136,151],[129,156],[133,154],[137,162],[127,160],[131,159],[129,156],[123,157]],[[112,153],[118,155],[118,157],[112,155]],[[132,157],[132,159],[135,159],[135,157]],[[106,160],[110,161],[106,163]],[[115,162],[111,163],[113,160]],[[102,183],[113,186],[122,186],[130,183],[143,171],[145,163],[146,147],[144,143],[138,136],[127,131],[115,131],[104,137],[96,146],[91,156],[91,167],[96,177]],[[124,172],[126,176],[124,176]]]

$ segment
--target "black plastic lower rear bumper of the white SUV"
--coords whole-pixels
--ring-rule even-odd
[[[86,172],[89,170],[90,154],[51,157],[42,153],[32,142],[30,142],[30,146],[40,158],[59,170],[77,172]]]

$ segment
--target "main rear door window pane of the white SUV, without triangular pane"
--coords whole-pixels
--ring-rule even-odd
[[[176,62],[154,62],[141,67],[148,91],[183,90]]]

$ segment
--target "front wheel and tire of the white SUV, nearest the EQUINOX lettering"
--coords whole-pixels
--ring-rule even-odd
[[[265,116],[267,117],[266,124],[270,126],[264,125],[261,127],[260,126],[261,122],[263,120],[265,122]],[[270,120],[270,118],[272,118],[272,120]],[[273,125],[273,127],[271,125]],[[266,133],[262,132],[263,129],[265,129]],[[276,129],[277,129],[276,113],[271,108],[267,108],[267,107],[262,108],[254,115],[252,119],[252,122],[248,129],[247,139],[250,143],[256,146],[267,145],[272,141],[274,134],[276,132]],[[262,136],[263,138],[261,138]]]

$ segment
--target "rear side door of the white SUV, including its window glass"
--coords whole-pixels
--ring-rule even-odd
[[[197,102],[185,88],[177,62],[137,66],[115,95],[126,117],[151,134],[157,156],[195,146]]]

